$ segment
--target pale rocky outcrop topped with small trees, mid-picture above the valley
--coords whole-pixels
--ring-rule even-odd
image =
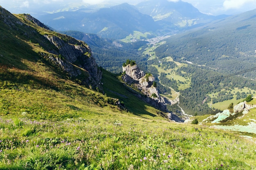
[[[139,69],[137,64],[123,66],[122,79],[137,91],[141,92],[146,98],[141,97],[145,102],[153,105],[155,108],[167,112],[166,103],[162,96],[159,95],[157,88],[153,86],[155,77],[151,74],[145,74]]]

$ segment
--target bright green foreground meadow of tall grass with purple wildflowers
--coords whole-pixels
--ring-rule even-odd
[[[256,168],[255,144],[227,132],[129,115],[93,117],[1,119],[0,169]]]

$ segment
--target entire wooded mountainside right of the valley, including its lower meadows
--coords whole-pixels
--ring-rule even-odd
[[[248,11],[173,35],[155,49],[159,60],[171,57],[187,65],[175,70],[191,80],[189,88],[178,89],[186,112],[209,113],[212,104],[239,102],[256,90],[255,14],[256,10]],[[226,108],[230,103],[225,103]]]

